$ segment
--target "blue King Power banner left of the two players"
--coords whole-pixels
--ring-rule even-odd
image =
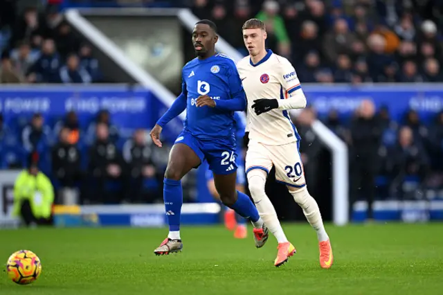
[[[142,87],[118,85],[1,87],[0,112],[6,123],[12,123],[17,117],[30,117],[34,113],[51,121],[72,110],[85,126],[100,109],[107,109],[112,122],[119,127],[149,127],[153,124],[149,107],[153,97]]]

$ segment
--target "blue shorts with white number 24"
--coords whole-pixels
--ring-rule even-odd
[[[183,130],[175,140],[174,144],[176,143],[188,145],[200,158],[201,163],[205,160],[208,162],[209,170],[216,175],[228,175],[237,171],[235,136],[208,141]]]

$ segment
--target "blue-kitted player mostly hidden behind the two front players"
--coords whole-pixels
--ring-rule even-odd
[[[244,157],[243,157],[243,137],[244,130],[246,128],[246,118],[239,114],[239,111],[235,111],[235,138],[237,141],[237,190],[244,193],[246,190],[246,174],[244,172]],[[219,200],[220,196],[215,188],[214,175],[210,170],[206,170],[206,184],[208,185],[208,190],[215,199]],[[233,209],[224,206],[224,225],[229,231],[234,231],[234,238],[244,239],[247,237],[246,229],[246,219],[239,216]]]

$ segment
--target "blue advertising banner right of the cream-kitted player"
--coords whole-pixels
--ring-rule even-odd
[[[443,110],[443,84],[372,84],[352,85],[306,85],[303,91],[309,105],[320,116],[330,110],[349,116],[361,100],[374,101],[377,108],[386,106],[392,118],[399,120],[408,109],[414,109],[425,120]]]

